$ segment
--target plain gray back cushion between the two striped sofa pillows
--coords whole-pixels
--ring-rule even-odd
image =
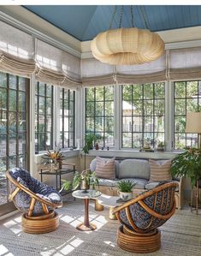
[[[119,178],[150,179],[150,164],[146,160],[126,159],[120,163]]]

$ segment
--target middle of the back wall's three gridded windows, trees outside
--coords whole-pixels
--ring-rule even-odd
[[[141,148],[164,142],[164,83],[121,86],[121,146]]]

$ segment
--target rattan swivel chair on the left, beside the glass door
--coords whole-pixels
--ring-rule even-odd
[[[54,209],[62,206],[60,193],[21,168],[7,171],[6,176],[9,180],[9,200],[23,212],[22,230],[40,234],[57,229],[59,217]]]

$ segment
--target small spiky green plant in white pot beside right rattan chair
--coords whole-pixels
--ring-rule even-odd
[[[129,180],[118,182],[118,193],[123,201],[127,201],[133,198],[133,188],[136,183]]]

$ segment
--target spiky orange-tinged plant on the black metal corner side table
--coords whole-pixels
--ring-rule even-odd
[[[49,164],[50,170],[54,171],[60,168],[64,157],[60,151],[50,152],[48,150],[41,158],[44,159],[43,164]]]

